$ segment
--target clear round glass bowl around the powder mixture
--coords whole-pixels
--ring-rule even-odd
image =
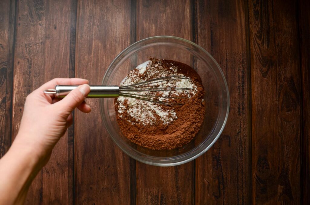
[[[196,137],[174,150],[151,150],[136,145],[120,131],[114,98],[100,99],[102,121],[117,146],[132,158],[156,166],[184,164],[205,153],[222,133],[229,111],[227,83],[215,59],[197,44],[178,37],[156,36],[138,41],[123,50],[109,66],[102,85],[119,85],[130,70],[149,57],[188,64],[201,77],[205,89],[206,114]]]

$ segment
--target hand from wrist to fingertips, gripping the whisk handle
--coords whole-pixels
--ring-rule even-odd
[[[13,145],[20,149],[33,149],[44,166],[53,147],[72,124],[72,111],[77,107],[88,113],[91,108],[84,99],[90,92],[88,81],[79,78],[55,78],[34,90],[26,98],[20,129]],[[80,85],[62,100],[44,94],[55,85]],[[13,146],[12,145],[12,146]]]

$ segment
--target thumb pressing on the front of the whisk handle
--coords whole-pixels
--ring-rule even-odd
[[[87,84],[80,85],[73,89],[64,99],[58,102],[62,111],[70,114],[74,108],[78,107],[85,100],[90,90],[91,88]]]

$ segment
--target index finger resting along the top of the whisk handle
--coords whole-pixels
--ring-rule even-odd
[[[88,80],[82,78],[54,78],[51,81],[41,85],[37,90],[43,92],[47,89],[54,89],[55,85],[82,85],[88,84]]]

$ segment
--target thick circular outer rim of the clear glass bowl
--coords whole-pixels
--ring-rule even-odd
[[[130,156],[131,158],[135,159],[135,160],[138,160],[139,162],[142,162],[142,163],[145,163],[145,164],[150,164],[150,165],[155,165],[155,166],[162,166],[162,167],[166,167],[166,166],[175,166],[175,165],[180,165],[180,164],[185,164],[189,161],[192,161],[193,159],[196,159],[198,158],[199,156],[201,156],[202,154],[204,154],[207,150],[209,150],[213,145],[214,143],[218,140],[219,136],[222,134],[224,128],[225,128],[225,125],[226,125],[226,122],[227,122],[227,119],[228,119],[228,114],[229,114],[229,109],[230,109],[230,99],[229,99],[229,90],[228,90],[228,85],[227,85],[227,82],[226,82],[226,79],[225,79],[225,76],[224,76],[224,73],[222,71],[222,69],[220,68],[219,64],[217,63],[217,61],[212,57],[212,55],[210,55],[209,52],[207,52],[204,48],[202,48],[201,46],[197,45],[196,43],[192,42],[192,41],[189,41],[189,40],[186,40],[184,38],[180,38],[180,37],[174,37],[174,36],[153,36],[153,37],[148,37],[148,38],[144,38],[142,40],[139,40],[131,45],[129,45],[128,47],[126,47],[124,50],[122,50],[122,52],[120,52],[114,59],[113,61],[110,63],[109,67],[107,68],[105,74],[104,74],[104,77],[102,79],[102,84],[104,83],[104,80],[105,78],[110,74],[110,72],[112,71],[111,70],[111,67],[112,65],[119,59],[120,56],[122,56],[124,53],[126,53],[128,50],[130,50],[132,47],[136,46],[137,44],[141,43],[141,42],[144,42],[144,41],[149,41],[149,40],[153,40],[153,39],[161,39],[161,38],[170,38],[170,39],[175,39],[175,40],[179,40],[179,41],[184,41],[186,43],[189,43],[191,44],[192,46],[194,47],[197,47],[198,49],[200,49],[201,51],[203,51],[204,53],[206,53],[206,55],[208,55],[210,57],[210,59],[215,63],[215,65],[217,66],[219,72],[220,72],[220,76],[222,77],[223,81],[224,81],[224,85],[225,85],[225,91],[226,91],[226,94],[227,94],[227,110],[226,110],[226,114],[225,114],[225,119],[224,119],[224,122],[221,126],[221,128],[219,129],[219,133],[217,133],[216,137],[212,140],[212,142],[206,147],[204,148],[203,150],[201,150],[199,153],[197,153],[196,155],[193,155],[191,157],[189,157],[188,159],[184,159],[182,161],[177,161],[177,162],[168,162],[168,163],[165,163],[165,161],[158,161],[156,160],[156,162],[153,162],[153,161],[148,161],[147,159],[143,160],[143,159],[139,159],[138,157],[136,157],[135,155],[133,155],[132,153],[130,153],[129,151],[125,150],[122,148],[122,146],[120,146],[120,144],[117,142],[116,139],[114,139],[113,137],[113,134],[109,131],[108,129],[108,126],[105,122],[104,119],[104,111],[103,111],[103,108],[101,106],[101,104],[104,103],[104,98],[100,98],[100,101],[99,101],[99,107],[100,107],[100,115],[101,115],[101,119],[103,121],[103,124],[104,124],[104,127],[106,128],[107,132],[109,133],[110,137],[112,138],[112,140],[117,144],[117,146],[123,151],[125,152],[128,156]]]

